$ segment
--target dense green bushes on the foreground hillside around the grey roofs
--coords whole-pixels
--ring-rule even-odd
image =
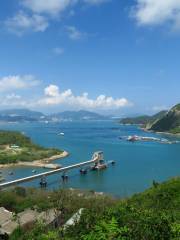
[[[84,208],[84,211],[80,221],[66,231],[61,227],[48,228],[39,222],[32,229],[16,230],[11,240],[180,239],[180,178],[163,184],[154,181],[149,190],[125,200],[87,193],[82,195],[70,190],[40,192],[16,189],[0,195],[0,206],[10,210],[20,211],[33,205],[40,210],[58,209],[61,225],[79,208]]]

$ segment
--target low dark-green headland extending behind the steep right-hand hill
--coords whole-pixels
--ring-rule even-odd
[[[132,117],[132,118],[123,118],[120,120],[120,123],[121,124],[147,125],[147,124],[153,123],[157,119],[162,118],[166,113],[167,113],[167,111],[161,111],[152,116],[142,115],[142,116]]]

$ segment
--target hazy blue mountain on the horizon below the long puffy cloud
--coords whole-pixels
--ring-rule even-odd
[[[50,116],[52,120],[57,121],[81,121],[81,120],[105,120],[109,117],[105,117],[98,113],[89,111],[65,111],[60,113],[55,113]]]

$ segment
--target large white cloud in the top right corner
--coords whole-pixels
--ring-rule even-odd
[[[160,25],[165,22],[180,28],[180,0],[136,0],[133,15],[140,25]]]

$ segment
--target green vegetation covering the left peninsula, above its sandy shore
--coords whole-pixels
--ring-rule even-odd
[[[17,148],[13,148],[13,145]],[[0,164],[33,161],[62,153],[53,148],[34,144],[31,139],[19,132],[0,131]]]

